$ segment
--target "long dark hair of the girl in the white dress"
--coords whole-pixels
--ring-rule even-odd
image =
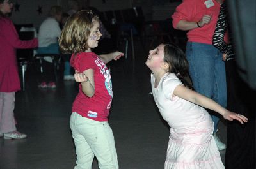
[[[183,50],[177,45],[164,44],[164,62],[169,64],[168,72],[174,73],[189,89],[193,89],[186,78],[189,78],[189,64]]]

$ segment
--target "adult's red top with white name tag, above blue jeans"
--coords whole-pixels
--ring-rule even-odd
[[[180,20],[188,22],[198,22],[203,15],[211,15],[212,20],[203,27],[198,27],[188,31],[188,41],[206,43],[212,45],[212,37],[220,13],[220,3],[215,0],[184,0],[177,6],[172,15],[173,27],[176,28]]]

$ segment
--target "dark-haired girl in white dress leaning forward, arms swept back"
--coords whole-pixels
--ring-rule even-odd
[[[159,45],[150,50],[146,65],[152,70],[154,100],[170,126],[164,168],[225,168],[212,136],[211,116],[203,107],[218,112],[229,121],[236,119],[243,124],[248,119],[189,89],[184,78],[188,75],[188,61],[179,47]]]

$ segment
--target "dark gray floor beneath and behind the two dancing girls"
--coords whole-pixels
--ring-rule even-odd
[[[109,124],[113,129],[122,169],[164,168],[169,130],[157,111],[150,91],[147,57],[136,50],[136,64],[118,61],[111,66],[113,105]],[[16,94],[17,128],[28,135],[24,140],[0,138],[1,169],[70,169],[76,154],[69,128],[72,101],[77,84],[60,81],[57,89],[38,89],[36,76],[28,73],[26,91]],[[227,139],[225,122],[218,135]],[[220,151],[225,158],[225,151]],[[93,169],[97,167],[93,163]]]

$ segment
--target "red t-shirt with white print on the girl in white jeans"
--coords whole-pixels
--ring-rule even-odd
[[[106,64],[93,52],[81,52],[73,54],[70,64],[75,70],[83,72],[94,70],[95,94],[87,97],[79,84],[79,93],[72,106],[72,112],[77,112],[83,117],[95,121],[108,121],[113,92],[109,70]]]

